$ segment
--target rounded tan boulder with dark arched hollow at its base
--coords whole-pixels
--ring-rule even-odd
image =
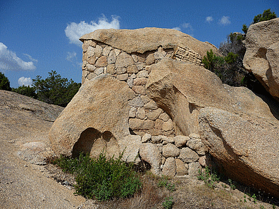
[[[49,138],[54,153],[96,157],[104,151],[118,157],[125,150],[123,160],[133,162],[141,145],[141,137],[131,136],[128,125],[128,100],[134,96],[125,82],[107,74],[83,84],[52,125]]]

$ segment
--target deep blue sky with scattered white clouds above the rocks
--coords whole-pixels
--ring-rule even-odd
[[[11,87],[31,84],[56,70],[82,80],[84,33],[96,29],[178,29],[219,47],[231,32],[242,32],[264,10],[279,15],[271,1],[29,1],[0,0],[0,72]]]

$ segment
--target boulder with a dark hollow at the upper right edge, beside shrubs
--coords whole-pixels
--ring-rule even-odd
[[[279,100],[279,18],[249,27],[243,65]]]

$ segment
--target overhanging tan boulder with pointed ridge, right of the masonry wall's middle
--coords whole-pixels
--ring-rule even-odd
[[[151,65],[146,92],[172,116],[176,134],[198,133],[203,107],[276,120],[269,105],[248,88],[222,84],[213,72],[191,63],[163,59]]]

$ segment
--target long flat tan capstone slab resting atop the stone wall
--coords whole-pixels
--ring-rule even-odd
[[[210,49],[218,54],[218,49],[209,44],[209,42],[201,42],[186,33],[173,29],[102,29],[87,33],[82,36],[80,40],[82,42],[84,42],[84,40],[96,40],[115,47],[116,49],[121,49],[129,54],[133,52],[144,54],[144,52],[156,50],[160,46],[164,49],[170,49],[176,48],[179,45],[187,45],[188,48],[193,49],[202,57],[205,56],[206,52]],[[158,52],[158,56],[160,56],[160,52]],[[153,58],[149,58],[149,63],[151,59]]]

